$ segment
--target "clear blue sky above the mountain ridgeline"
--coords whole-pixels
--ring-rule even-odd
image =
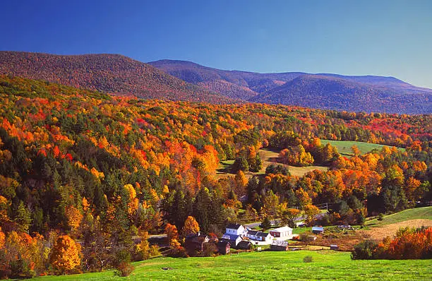
[[[0,26],[0,50],[373,74],[432,88],[432,0],[10,0]]]

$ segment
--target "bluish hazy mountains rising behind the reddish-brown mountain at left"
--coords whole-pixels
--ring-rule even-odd
[[[431,89],[419,88],[394,77],[224,71],[190,61],[172,60],[149,64],[189,83],[250,102],[365,112],[432,112]]]

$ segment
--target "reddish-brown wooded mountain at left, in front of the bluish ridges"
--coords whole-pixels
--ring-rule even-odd
[[[60,56],[0,52],[0,74],[47,80],[117,95],[164,100],[232,102],[159,69],[118,54]]]

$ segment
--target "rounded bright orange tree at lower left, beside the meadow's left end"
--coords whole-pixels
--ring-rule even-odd
[[[60,236],[51,250],[49,263],[59,270],[66,273],[68,270],[78,268],[80,265],[81,246],[68,235]]]

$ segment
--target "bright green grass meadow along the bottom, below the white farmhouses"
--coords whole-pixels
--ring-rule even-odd
[[[312,263],[304,263],[312,256]],[[431,280],[432,263],[352,261],[337,251],[254,252],[215,258],[153,258],[134,264],[129,277],[112,271],[46,276],[37,280]],[[164,267],[172,270],[162,270]]]

